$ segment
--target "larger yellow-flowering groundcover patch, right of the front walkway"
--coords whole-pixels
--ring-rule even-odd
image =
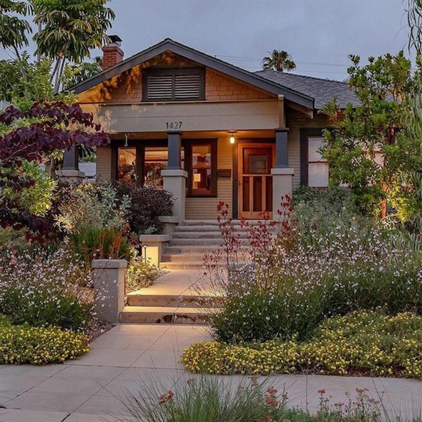
[[[310,341],[195,343],[182,362],[214,374],[308,373],[422,378],[422,317],[357,311],[322,322]]]

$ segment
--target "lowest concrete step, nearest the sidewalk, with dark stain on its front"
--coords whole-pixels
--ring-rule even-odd
[[[120,322],[151,324],[207,324],[213,308],[177,308],[173,306],[125,306]]]

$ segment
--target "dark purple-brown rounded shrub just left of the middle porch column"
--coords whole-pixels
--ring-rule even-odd
[[[136,234],[153,234],[162,231],[159,216],[173,215],[173,197],[163,189],[151,189],[135,183],[116,183],[118,196],[130,198],[127,219],[130,231]]]

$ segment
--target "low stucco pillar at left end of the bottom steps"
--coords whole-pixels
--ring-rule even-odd
[[[124,273],[126,260],[93,260],[94,308],[98,319],[119,322],[124,308]]]

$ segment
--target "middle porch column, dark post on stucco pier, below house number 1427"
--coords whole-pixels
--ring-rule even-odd
[[[161,170],[163,187],[173,194],[173,216],[181,223],[185,218],[185,197],[187,171],[182,170],[181,132],[179,130],[169,131],[168,134],[168,159],[167,168]]]

